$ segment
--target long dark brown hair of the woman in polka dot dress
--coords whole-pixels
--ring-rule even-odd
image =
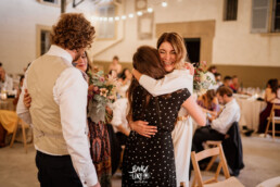
[[[161,63],[161,58],[155,48],[149,46],[142,46],[137,49],[137,52],[133,54],[133,68],[140,72],[141,74],[145,74],[151,76],[155,79],[163,78],[166,74],[163,64]],[[131,84],[128,88],[128,102],[129,102],[129,112],[127,117],[131,119],[132,116],[132,99],[133,99],[133,91],[139,86],[138,80],[132,77]],[[143,105],[147,107],[151,95],[144,90],[143,97],[145,98],[143,101]]]

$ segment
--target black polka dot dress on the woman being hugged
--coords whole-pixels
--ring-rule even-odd
[[[188,89],[170,95],[151,97],[144,107],[144,88],[132,94],[133,121],[145,121],[157,126],[151,138],[131,132],[123,159],[123,187],[176,187],[176,170],[171,132],[181,104],[190,97]]]

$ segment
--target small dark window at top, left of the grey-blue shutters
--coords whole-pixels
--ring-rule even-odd
[[[238,20],[238,0],[225,0],[224,21]]]

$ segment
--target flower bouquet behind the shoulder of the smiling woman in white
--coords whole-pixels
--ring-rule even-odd
[[[194,63],[194,77],[193,77],[193,90],[198,95],[202,95],[214,86],[216,83],[207,74],[207,63],[206,61]]]

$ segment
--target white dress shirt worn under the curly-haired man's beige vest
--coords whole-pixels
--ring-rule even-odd
[[[51,46],[47,55],[56,55],[72,63],[72,55],[58,46]],[[27,88],[28,70],[25,73],[23,90]],[[16,112],[26,123],[31,124],[29,110],[25,108],[22,91]],[[73,165],[84,186],[93,186],[98,183],[96,169],[89,152],[87,128],[87,94],[88,84],[81,72],[75,67],[64,70],[53,87],[53,99],[60,105],[62,133],[67,145]],[[35,145],[35,148],[38,148]],[[47,154],[44,150],[39,150]]]

